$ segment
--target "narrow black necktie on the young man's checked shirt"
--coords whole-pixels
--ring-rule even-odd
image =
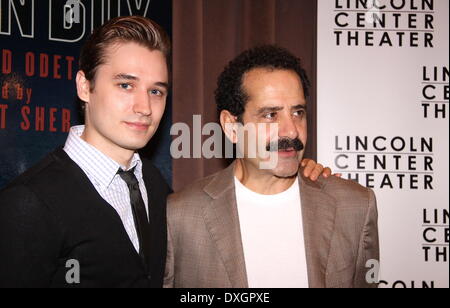
[[[129,171],[120,169],[117,172],[127,183],[130,190],[131,208],[133,210],[134,224],[139,239],[139,255],[148,269],[150,257],[150,224],[145,210],[145,203],[139,189],[139,182],[134,175],[134,168]]]

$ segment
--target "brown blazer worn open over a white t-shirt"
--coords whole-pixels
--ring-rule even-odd
[[[248,287],[234,167],[169,197],[165,287]],[[299,180],[309,286],[376,287],[366,282],[366,262],[379,260],[373,192],[336,177]]]

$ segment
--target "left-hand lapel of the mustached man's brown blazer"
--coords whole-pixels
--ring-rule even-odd
[[[216,243],[233,288],[248,288],[244,249],[234,186],[235,163],[204,188],[213,198],[204,205],[206,226]]]

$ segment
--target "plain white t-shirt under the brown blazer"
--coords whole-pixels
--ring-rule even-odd
[[[298,179],[285,192],[260,195],[235,178],[250,288],[307,288]]]

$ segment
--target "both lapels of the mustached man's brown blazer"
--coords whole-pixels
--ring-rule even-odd
[[[213,199],[204,206],[205,222],[220,251],[234,288],[247,288],[247,272],[234,185],[234,162],[204,187]],[[325,287],[336,209],[323,191],[324,179],[313,182],[299,172],[303,233],[310,287]]]

